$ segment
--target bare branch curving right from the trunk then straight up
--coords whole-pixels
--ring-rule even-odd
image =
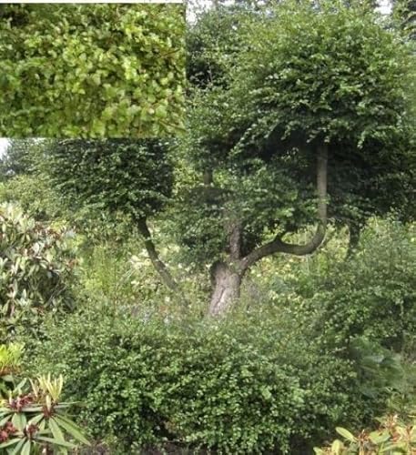
[[[241,260],[241,269],[246,271],[259,259],[274,253],[288,253],[296,256],[304,256],[313,253],[320,247],[325,238],[327,228],[327,175],[328,175],[328,146],[318,147],[317,160],[317,191],[318,191],[318,218],[319,224],[315,235],[306,245],[294,245],[284,242],[281,236],[277,236],[269,243],[251,251],[246,258]]]

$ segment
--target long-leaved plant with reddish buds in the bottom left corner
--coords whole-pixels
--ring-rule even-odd
[[[44,453],[45,448],[67,454],[76,445],[88,444],[79,427],[66,416],[69,403],[60,400],[64,379],[49,376],[25,380],[4,399],[0,408],[0,449],[7,454]],[[77,444],[67,439],[76,440]]]

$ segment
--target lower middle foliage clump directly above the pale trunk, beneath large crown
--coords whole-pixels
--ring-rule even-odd
[[[246,255],[270,232],[282,234],[294,218],[299,227],[313,219],[313,189],[299,188],[296,175],[282,170],[281,160],[268,164],[252,160],[246,165],[247,171],[217,168],[210,186],[178,188],[169,215],[184,260],[200,267],[222,258],[228,250],[229,227],[236,223],[244,228],[241,253]]]

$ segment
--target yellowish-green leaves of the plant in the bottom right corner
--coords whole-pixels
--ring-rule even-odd
[[[411,419],[407,419],[411,420]],[[324,449],[315,448],[317,455],[372,455],[376,453],[411,454],[416,450],[416,425],[401,420],[398,415],[379,419],[377,430],[362,430],[355,436],[349,430],[337,428],[343,440],[334,440]]]

